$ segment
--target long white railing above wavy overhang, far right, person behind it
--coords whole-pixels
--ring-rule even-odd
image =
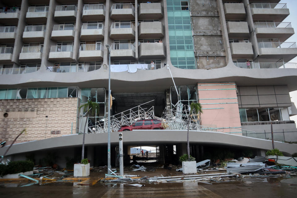
[[[297,63],[293,62],[236,62],[236,67],[244,69],[297,69]]]

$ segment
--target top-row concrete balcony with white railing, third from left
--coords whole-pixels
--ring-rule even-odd
[[[55,21],[75,21],[77,7],[75,5],[56,6]]]

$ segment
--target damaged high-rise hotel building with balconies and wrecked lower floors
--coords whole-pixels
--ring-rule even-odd
[[[92,100],[100,111],[88,116],[85,156],[91,166],[107,164],[107,133],[100,126],[108,115],[110,68],[111,116],[129,119],[129,109],[144,103],[141,109],[153,106],[155,119],[165,109],[202,105],[197,119],[205,128],[190,131],[197,159],[212,148],[263,155],[272,149],[271,122],[275,147],[296,152],[296,144],[285,141],[297,141],[289,95],[297,90],[297,63],[290,62],[297,46],[286,42],[294,29],[282,22],[290,13],[279,2],[2,0],[1,142],[9,145],[27,131],[7,159],[54,152],[65,166],[66,156],[81,154],[86,114],[79,107]],[[123,131],[125,156],[130,147],[156,146],[163,163],[186,153],[186,141],[187,130],[178,127],[147,130],[144,123]],[[116,146],[112,130],[112,164]]]

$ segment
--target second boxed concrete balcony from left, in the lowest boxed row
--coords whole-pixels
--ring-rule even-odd
[[[29,46],[22,47],[22,51],[19,54],[20,62],[41,62],[42,58],[42,46]]]

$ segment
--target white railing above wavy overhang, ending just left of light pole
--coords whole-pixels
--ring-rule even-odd
[[[84,66],[60,66],[60,67],[47,67],[46,69],[52,72],[88,72],[101,68],[101,65],[84,65]]]

